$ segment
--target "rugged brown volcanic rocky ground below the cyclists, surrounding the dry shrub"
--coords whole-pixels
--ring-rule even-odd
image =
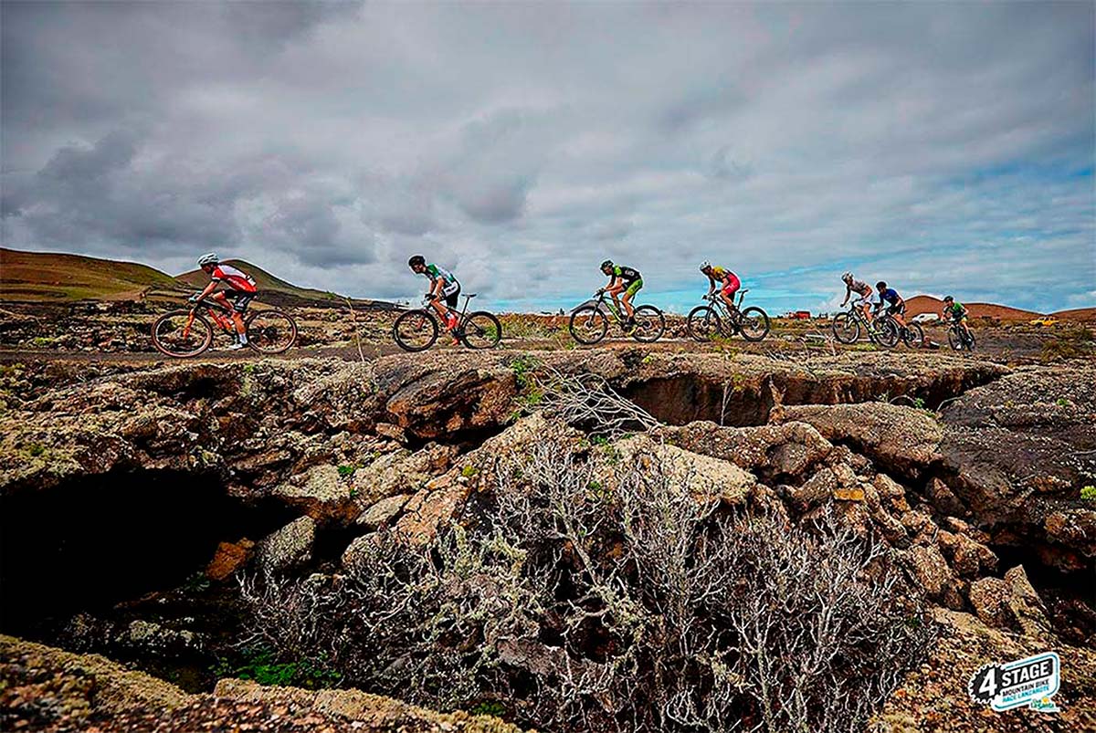
[[[576,389],[592,390],[579,406]],[[595,440],[581,405],[610,393],[638,410]],[[608,486],[621,466],[658,466],[729,508],[794,523],[837,511],[881,538],[940,639],[879,730],[1096,728],[1091,360],[615,348],[27,362],[4,367],[0,401],[3,630],[197,694],[126,677],[141,682],[117,707],[93,694],[114,683],[89,682],[99,665],[123,674],[113,663],[5,639],[5,730],[505,730],[389,719],[352,691],[262,691],[221,662],[246,626],[241,574],[333,577],[378,532],[430,542],[476,522],[501,462],[547,437]],[[1062,657],[1061,713],[970,702],[980,665],[1048,650]],[[510,663],[534,664],[523,654]]]

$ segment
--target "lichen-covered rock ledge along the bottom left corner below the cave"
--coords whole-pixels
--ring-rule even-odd
[[[4,635],[0,635],[0,729],[5,731],[520,731],[490,715],[436,713],[356,690],[317,691],[221,679],[214,695],[187,695],[102,656]]]

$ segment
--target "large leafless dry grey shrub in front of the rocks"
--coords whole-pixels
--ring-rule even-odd
[[[681,477],[515,460],[468,529],[346,575],[244,585],[253,633],[434,708],[548,731],[858,731],[932,648],[891,551],[730,514]]]

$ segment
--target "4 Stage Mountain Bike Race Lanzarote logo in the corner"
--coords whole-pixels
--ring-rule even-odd
[[[970,699],[997,712],[1027,706],[1058,712],[1051,699],[1062,682],[1062,663],[1054,652],[1036,654],[1008,664],[986,664],[967,683]]]

